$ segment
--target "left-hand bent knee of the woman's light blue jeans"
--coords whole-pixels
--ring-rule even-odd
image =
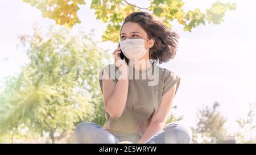
[[[92,122],[82,122],[79,123],[74,131],[75,136],[77,137],[81,137],[83,135],[92,135],[93,132],[99,128],[100,126],[96,123],[92,123]]]

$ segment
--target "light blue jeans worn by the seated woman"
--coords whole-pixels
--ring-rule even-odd
[[[115,144],[120,141],[137,143],[141,136],[128,133],[110,133],[100,125],[91,122],[82,122],[74,132],[75,143]],[[189,127],[171,123],[162,131],[156,133],[146,141],[146,144],[191,143],[192,131]]]

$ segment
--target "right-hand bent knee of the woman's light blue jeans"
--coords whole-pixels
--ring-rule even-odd
[[[192,130],[185,124],[169,124],[164,131],[175,137],[176,143],[191,143]]]

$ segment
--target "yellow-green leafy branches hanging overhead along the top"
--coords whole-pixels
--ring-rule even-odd
[[[80,6],[85,5],[84,0],[23,0],[31,6],[42,11],[44,18],[50,18],[57,24],[72,28],[73,25],[81,23],[77,16]],[[192,28],[205,23],[220,24],[224,21],[226,11],[236,10],[236,3],[213,3],[210,9],[202,12],[200,9],[184,10],[182,0],[149,0],[150,6],[139,7],[126,0],[92,0],[90,9],[95,10],[96,19],[100,19],[108,26],[102,35],[102,41],[119,41],[119,31],[125,17],[134,11],[148,11],[162,19],[167,27],[172,27],[175,20],[184,26],[184,31],[192,31]]]

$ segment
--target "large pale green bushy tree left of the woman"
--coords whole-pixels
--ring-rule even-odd
[[[30,62],[0,92],[1,135],[24,127],[55,143],[77,123],[105,117],[98,71],[108,56],[90,36],[51,26],[19,37]]]

